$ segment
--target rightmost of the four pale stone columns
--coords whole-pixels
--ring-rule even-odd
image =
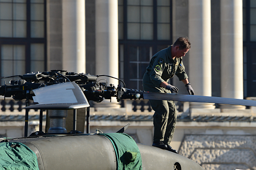
[[[243,99],[243,1],[221,0],[221,97]],[[244,109],[244,106],[221,105]]]

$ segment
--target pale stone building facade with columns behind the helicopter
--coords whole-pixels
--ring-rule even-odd
[[[46,8],[47,48],[45,48],[46,70],[42,71],[64,69],[93,75],[107,74],[130,80],[132,78],[126,77],[126,74],[134,70],[121,67],[122,64],[135,62],[122,60],[125,56],[129,56],[126,54],[129,52],[128,49],[132,49],[131,44],[126,43],[133,43],[138,57],[144,45],[149,49],[146,53],[149,56],[154,55],[157,49],[154,44],[152,46],[147,44],[149,40],[130,41],[129,38],[125,39],[125,36],[124,39],[120,38],[120,23],[132,22],[120,20],[119,17],[128,7],[138,7],[141,10],[143,7],[157,9],[155,5],[165,3],[164,0],[152,0],[152,5],[143,5],[150,0],[44,0],[43,2]],[[132,2],[135,4],[129,4]],[[247,43],[243,43],[247,42],[248,37],[250,38],[247,35],[248,31],[245,34],[243,17],[247,18],[248,14],[245,16],[243,8],[252,5],[251,9],[254,9],[254,3],[250,4],[248,0],[168,0],[166,4],[164,3],[158,7],[167,9],[168,6],[171,9],[169,11],[171,22],[168,23],[171,34],[170,39],[167,40],[169,43],[165,44],[166,41],[159,43],[163,46],[171,45],[178,37],[189,37],[192,47],[184,58],[184,64],[195,94],[253,99],[254,92],[250,91],[252,88],[249,88],[251,84],[247,75],[251,75],[250,72],[253,70],[250,70],[249,68],[253,67],[248,65],[253,66],[253,62],[250,63],[252,60],[248,59],[255,57],[249,53]],[[125,10],[120,10],[120,7],[124,7]],[[154,16],[152,18],[155,20]],[[141,20],[139,24],[142,26],[145,23]],[[124,28],[124,31],[127,33],[127,28]],[[128,33],[126,36],[129,36]],[[153,40],[152,42],[158,43]],[[250,46],[250,49],[253,51],[253,47]],[[251,56],[248,58],[248,55]],[[144,62],[149,61],[138,61],[136,64],[147,65]],[[137,72],[136,75],[140,74]],[[109,84],[118,84],[118,81],[112,79],[107,81]],[[139,76],[132,81],[136,81],[140,87]],[[184,85],[178,79],[174,78],[172,84],[180,89],[179,93],[186,94]],[[151,145],[154,112],[150,107],[142,105],[141,101],[136,101],[136,104],[128,100],[123,103],[124,107],[121,107],[114,101],[115,99],[112,99],[111,103],[109,100],[99,104],[91,103],[90,132],[94,133],[96,129],[105,133],[117,132],[130,123],[125,132],[138,143]],[[0,137],[22,137],[24,110],[19,112],[18,104],[12,106],[8,104],[8,100],[6,103],[6,105],[1,104]],[[205,170],[256,170],[254,107],[192,102],[177,102],[177,106],[178,122],[172,147],[178,149],[179,154],[196,161]],[[14,110],[9,110],[12,107]],[[38,130],[38,114],[38,111],[30,111],[29,134]]]

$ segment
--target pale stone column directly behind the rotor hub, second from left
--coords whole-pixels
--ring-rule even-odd
[[[96,75],[118,78],[118,0],[95,0],[95,15]],[[98,79],[106,79],[108,85],[118,85],[118,80],[113,78]],[[104,100],[95,104],[95,107],[119,107],[115,103],[116,98],[113,98],[111,103]]]

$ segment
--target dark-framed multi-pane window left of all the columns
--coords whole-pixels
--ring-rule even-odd
[[[45,71],[45,5],[45,0],[0,0],[1,77]]]

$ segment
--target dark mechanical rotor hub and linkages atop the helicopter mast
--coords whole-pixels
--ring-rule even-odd
[[[107,85],[106,82],[99,82],[97,80],[100,76],[93,76],[84,73],[67,72],[66,70],[51,70],[50,72],[30,72],[23,75],[1,77],[12,78],[18,77],[20,80],[12,79],[9,83],[0,86],[0,95],[4,97],[13,97],[15,100],[29,99],[33,100],[34,89],[55,85],[64,82],[75,82],[81,88],[82,92],[88,100],[94,102],[102,102],[105,99],[116,97],[119,102],[121,99],[141,99],[143,92],[141,90],[126,89],[124,81],[121,81],[124,87],[118,85]],[[102,79],[101,79],[102,80]],[[29,93],[27,93],[29,91]]]

